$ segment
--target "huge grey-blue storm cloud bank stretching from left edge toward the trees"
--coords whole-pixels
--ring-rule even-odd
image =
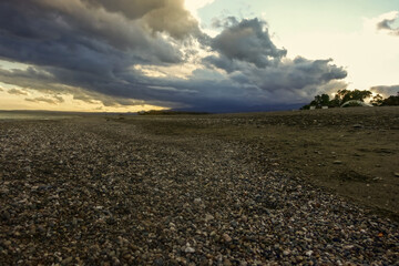
[[[104,105],[245,111],[301,103],[345,86],[331,60],[287,59],[265,21],[228,18],[211,38],[183,0],[6,0],[0,2],[0,81]],[[184,78],[175,68],[193,71]],[[166,73],[166,74],[165,74]]]

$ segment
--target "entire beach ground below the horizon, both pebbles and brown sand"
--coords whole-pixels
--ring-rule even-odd
[[[0,265],[393,265],[398,200],[399,108],[0,119]]]

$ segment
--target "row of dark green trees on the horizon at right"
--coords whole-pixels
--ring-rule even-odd
[[[370,99],[370,104],[374,106],[399,105],[399,92],[397,95],[390,95],[387,99],[383,99],[380,94],[371,96],[372,92],[367,90],[349,91],[345,89],[337,91],[334,99],[330,99],[328,94],[316,95],[315,100],[313,100],[309,104],[304,105],[301,110],[310,109],[310,106],[315,106],[317,109],[320,109],[321,106],[339,108],[349,101],[350,102],[347,106],[359,106],[360,104],[357,101],[365,102],[366,99]]]

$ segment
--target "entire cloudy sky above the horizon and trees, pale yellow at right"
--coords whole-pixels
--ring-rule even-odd
[[[0,110],[245,112],[399,91],[399,0],[2,0]]]

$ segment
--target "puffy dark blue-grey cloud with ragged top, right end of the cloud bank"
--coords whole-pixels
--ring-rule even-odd
[[[331,64],[331,59],[285,58],[287,51],[276,48],[263,21],[228,18],[217,25],[224,28],[212,42],[218,54],[205,58],[204,63],[226,71],[232,81],[252,89],[258,99],[304,101],[319,91],[330,91],[331,85],[346,88],[337,81],[347,72]]]

